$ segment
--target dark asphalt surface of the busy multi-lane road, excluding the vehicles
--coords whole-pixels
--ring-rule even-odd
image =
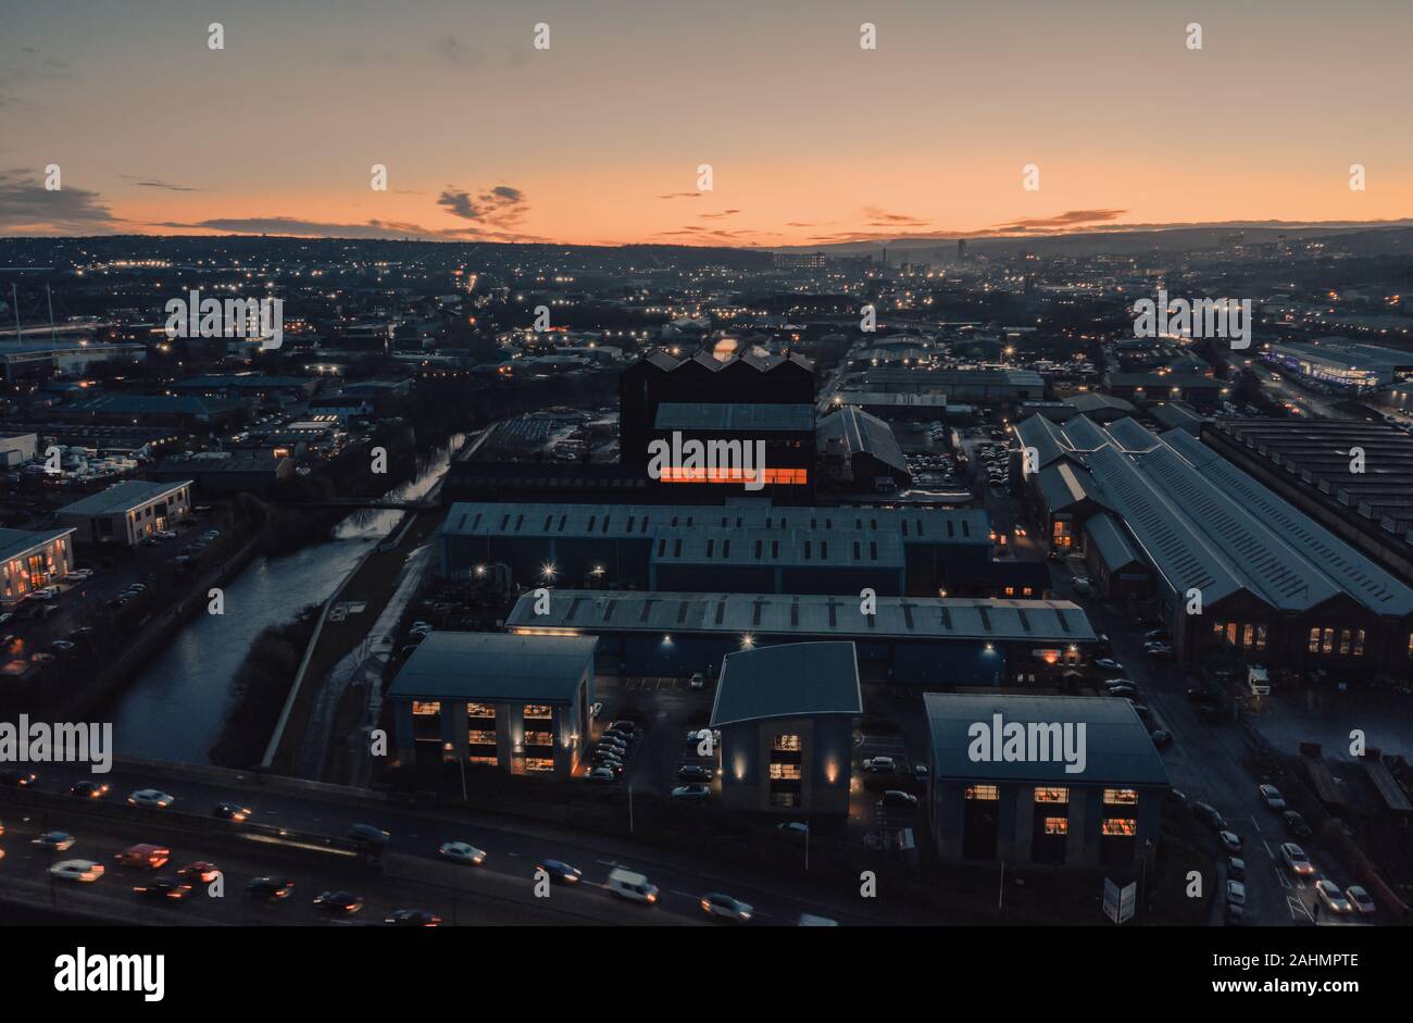
[[[41,764],[35,773],[40,776],[37,784],[40,790],[59,793],[66,791],[72,781],[93,777],[82,764]],[[807,882],[781,885],[774,877],[753,876],[716,865],[702,865],[670,853],[660,853],[657,849],[596,835],[561,835],[551,828],[521,825],[504,820],[493,821],[482,815],[420,812],[400,805],[360,805],[261,787],[236,788],[206,781],[178,780],[122,767],[114,769],[102,780],[112,786],[109,800],[123,800],[127,793],[136,788],[154,787],[177,797],[174,808],[195,814],[208,814],[216,803],[235,800],[254,811],[253,821],[322,835],[342,836],[352,824],[373,824],[391,832],[391,849],[406,858],[406,862],[410,863],[410,872],[417,873],[417,861],[422,861],[427,876],[434,880],[445,877],[442,861],[437,858],[437,848],[444,841],[471,842],[487,852],[486,863],[461,872],[465,876],[466,889],[456,893],[454,901],[465,907],[458,916],[469,914],[473,921],[694,924],[704,920],[698,897],[706,892],[725,892],[755,906],[757,918],[763,924],[793,924],[801,913],[827,916],[844,924],[899,923],[893,918],[892,910],[885,917],[883,911],[875,910],[872,904],[851,904],[863,901],[853,890],[825,893],[821,897]],[[0,790],[0,796],[3,796],[3,790]],[[295,879],[300,893],[297,901],[302,901],[305,893],[312,897],[314,893],[324,889],[348,887],[366,894],[370,909],[376,906],[377,911],[391,909],[396,903],[396,907],[428,909],[441,913],[448,923],[452,920],[451,894],[439,885],[389,882],[369,876],[362,868],[349,875],[339,863],[309,866],[292,863],[283,856],[266,858],[259,852],[247,852],[244,848],[235,853],[225,848],[209,849],[203,846],[203,842],[229,844],[230,839],[219,835],[192,835],[178,829],[164,832],[141,821],[134,822],[133,827],[119,827],[113,824],[112,818],[85,814],[86,810],[89,808],[83,801],[75,800],[73,817],[69,817],[68,810],[65,810],[64,818],[42,820],[35,815],[34,820],[25,821],[23,818],[27,811],[34,811],[32,807],[21,807],[0,797],[0,821],[7,828],[7,834],[0,838],[0,848],[8,853],[0,861],[0,877],[6,879],[6,886],[10,886],[11,879],[23,885],[38,885],[37,890],[42,890],[47,897],[48,883],[44,868],[51,858],[48,853],[38,855],[40,851],[28,845],[28,838],[51,828],[61,828],[79,839],[78,845],[64,858],[92,858],[112,862],[110,858],[127,845],[155,842],[171,848],[174,861],[209,859],[216,862],[239,880],[242,889],[249,877],[287,872]],[[561,859],[579,868],[584,872],[584,883],[578,890],[555,887],[550,900],[536,899],[533,872],[534,865],[543,858]],[[602,890],[601,886],[615,866],[646,873],[661,890],[660,903],[654,907],[625,903]],[[404,870],[398,873],[404,873]],[[360,879],[366,880],[360,883]],[[129,903],[130,911],[137,918],[143,918],[153,907],[134,903],[129,893],[131,887],[129,880],[126,875],[122,877],[105,876],[92,886],[75,885],[72,887],[95,889],[102,894],[103,890],[116,887],[114,882],[120,882],[124,889],[120,897]],[[403,887],[404,885],[411,885],[411,887]],[[81,894],[75,893],[73,897],[81,897]],[[232,896],[229,886],[226,896],[229,903]],[[517,909],[507,910],[506,906]],[[191,909],[194,907],[182,906],[177,911],[191,916]],[[307,909],[307,906],[300,907],[298,916],[287,916],[298,924],[319,923],[318,917],[311,917],[305,911]],[[252,923],[244,917],[233,916],[235,910],[232,909],[216,907],[211,913],[216,914],[212,918],[213,923]],[[531,916],[520,918],[517,914]],[[373,916],[373,913],[367,913],[367,918]],[[266,918],[268,917],[260,917],[260,920]],[[283,917],[271,921],[291,923]],[[924,920],[906,921],[924,923]]]

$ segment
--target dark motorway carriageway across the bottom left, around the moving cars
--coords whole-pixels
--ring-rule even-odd
[[[37,788],[65,793],[72,781],[92,779],[83,764],[40,764]],[[804,882],[780,883],[736,869],[716,868],[660,853],[596,835],[567,835],[531,824],[492,821],[482,815],[335,800],[324,794],[291,793],[270,787],[222,784],[206,780],[178,780],[146,769],[119,766],[102,781],[112,786],[107,800],[123,800],[143,787],[162,788],[177,797],[174,810],[203,815],[216,803],[233,800],[252,808],[252,821],[342,836],[355,822],[373,824],[393,834],[389,869],[379,876],[356,859],[329,853],[290,853],[261,848],[250,839],[219,831],[194,834],[164,827],[160,811],[134,811],[130,821],[96,815],[83,800],[65,804],[62,811],[13,801],[13,790],[0,790],[0,822],[6,834],[0,848],[0,897],[10,896],[31,906],[92,909],[136,923],[185,920],[203,924],[322,924],[311,909],[324,889],[348,889],[367,899],[356,920],[377,923],[384,910],[422,909],[461,924],[701,924],[709,923],[697,900],[706,892],[725,892],[756,907],[763,924],[794,924],[801,913],[827,916],[844,924],[900,923],[897,907],[858,906],[856,892],[839,892],[821,899]],[[64,829],[78,844],[58,856],[30,845],[48,829]],[[485,849],[483,866],[456,866],[437,859],[444,841],[465,841]],[[113,856],[137,842],[165,845],[172,851],[171,869],[198,859],[215,862],[226,872],[223,899],[194,899],[174,909],[137,900],[131,885],[137,872],[119,869]],[[45,873],[55,859],[88,858],[109,865],[107,875],[92,885],[57,886],[57,903]],[[548,899],[534,894],[533,872],[541,858],[561,859],[584,872],[577,887],[551,889]],[[620,901],[603,890],[615,866],[640,870],[661,890],[656,906]],[[292,904],[260,907],[244,897],[244,885],[261,875],[285,875],[295,882]],[[413,879],[415,877],[415,880]],[[849,906],[849,903],[855,903]],[[879,916],[873,916],[873,913]],[[883,914],[887,914],[885,917]],[[174,917],[175,914],[175,917]],[[906,920],[924,923],[923,920]]]

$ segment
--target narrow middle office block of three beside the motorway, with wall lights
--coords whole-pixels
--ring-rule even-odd
[[[783,643],[728,656],[711,711],[721,733],[722,807],[844,817],[862,714],[852,643]]]

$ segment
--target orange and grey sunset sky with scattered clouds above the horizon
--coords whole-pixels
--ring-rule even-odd
[[[777,246],[1399,219],[1410,52],[1407,0],[10,0],[0,233]]]

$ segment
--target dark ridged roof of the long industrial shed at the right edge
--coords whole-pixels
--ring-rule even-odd
[[[1407,432],[1354,420],[1215,420],[1202,441],[1413,582],[1413,437]]]

